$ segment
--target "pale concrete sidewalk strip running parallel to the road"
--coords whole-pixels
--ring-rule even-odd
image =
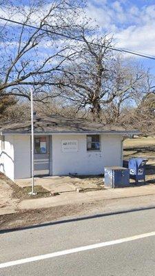
[[[139,197],[145,195],[155,195],[155,185],[117,188],[108,190],[91,191],[87,193],[62,193],[56,197],[40,199],[26,199],[18,204],[19,209],[49,208],[53,206],[64,206],[67,204],[81,204],[97,200],[121,199],[127,197]]]

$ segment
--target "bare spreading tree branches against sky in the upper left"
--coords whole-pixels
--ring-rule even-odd
[[[25,86],[35,86],[37,92],[43,86],[65,86],[65,62],[74,57],[72,38],[79,37],[79,24],[87,24],[82,6],[79,0],[32,0],[29,6],[1,1],[5,17],[23,23],[0,21],[1,94],[30,98]]]

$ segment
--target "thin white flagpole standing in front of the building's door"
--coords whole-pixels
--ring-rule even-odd
[[[33,121],[33,90],[30,88],[30,100],[31,100],[31,175],[32,175],[32,190],[29,195],[37,195],[34,192],[34,121]]]

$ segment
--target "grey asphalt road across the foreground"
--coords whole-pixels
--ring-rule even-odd
[[[0,275],[153,276],[154,231],[155,209],[151,209],[2,233]],[[147,237],[141,236],[145,233]],[[76,249],[70,253],[72,248]]]

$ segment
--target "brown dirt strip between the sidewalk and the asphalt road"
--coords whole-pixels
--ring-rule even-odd
[[[52,208],[40,208],[35,210],[23,210],[20,213],[12,215],[0,216],[0,230],[15,230],[29,226],[41,226],[41,224],[50,225],[56,221],[63,219],[72,219],[79,216],[91,215],[111,212],[119,212],[122,210],[133,210],[134,208],[153,208],[150,204],[154,203],[155,195],[147,197],[133,197],[123,199],[97,200],[90,203],[68,204],[65,206],[55,206]]]

